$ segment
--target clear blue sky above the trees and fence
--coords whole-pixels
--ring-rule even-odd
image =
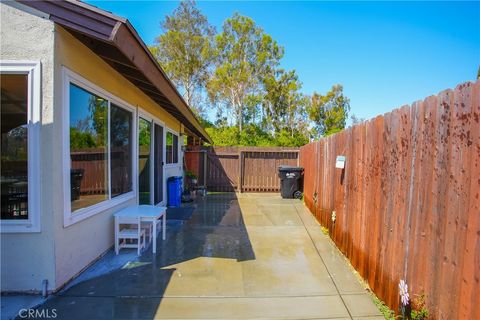
[[[145,43],[178,1],[87,1],[126,17]],[[344,86],[352,113],[373,118],[457,84],[480,65],[480,2],[199,1],[221,30],[234,12],[284,46],[303,91]]]

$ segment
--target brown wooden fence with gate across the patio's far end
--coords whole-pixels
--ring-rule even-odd
[[[185,163],[209,191],[278,192],[278,167],[298,165],[298,152],[283,147],[191,147]]]

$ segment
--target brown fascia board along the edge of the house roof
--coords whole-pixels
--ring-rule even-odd
[[[200,125],[192,110],[166,76],[156,59],[130,22],[105,10],[80,1],[26,1],[18,2],[49,15],[50,20],[88,37],[111,43],[178,109],[187,120],[185,127],[209,143],[212,140]],[[181,119],[179,119],[181,118]]]

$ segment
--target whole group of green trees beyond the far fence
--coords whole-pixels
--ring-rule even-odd
[[[343,87],[305,94],[296,71],[280,67],[284,48],[253,19],[235,13],[215,35],[195,2],[182,1],[162,28],[151,50],[215,145],[301,146],[345,127]]]

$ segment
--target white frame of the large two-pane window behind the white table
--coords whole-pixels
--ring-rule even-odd
[[[137,137],[137,109],[116,97],[105,89],[93,84],[79,74],[71,71],[67,67],[62,67],[62,83],[63,83],[63,194],[64,194],[64,214],[63,226],[68,227],[72,224],[85,220],[91,216],[102,213],[106,210],[119,206],[127,201],[135,199],[137,195],[137,146],[135,137]],[[132,191],[125,194],[111,197],[111,163],[110,163],[110,148],[108,149],[108,199],[91,205],[89,207],[81,208],[72,212],[71,204],[71,186],[70,186],[70,84],[74,84],[84,90],[87,90],[101,98],[108,101],[108,114],[110,115],[110,104],[115,105],[132,113]],[[108,146],[110,147],[110,118],[108,119]]]

